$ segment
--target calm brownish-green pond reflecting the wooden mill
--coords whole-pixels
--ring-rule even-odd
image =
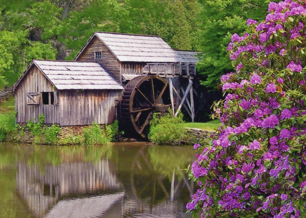
[[[0,144],[0,217],[191,217],[192,146]]]

